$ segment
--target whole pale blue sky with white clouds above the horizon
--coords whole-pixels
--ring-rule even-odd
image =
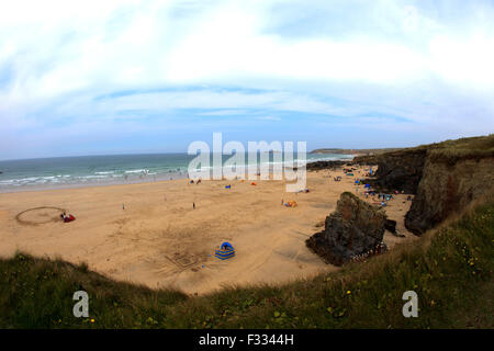
[[[494,133],[494,1],[0,0],[0,160]]]

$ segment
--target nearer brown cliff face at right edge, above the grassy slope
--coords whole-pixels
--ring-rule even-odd
[[[441,160],[428,157],[406,228],[422,235],[464,208],[472,200],[494,191],[494,157]]]

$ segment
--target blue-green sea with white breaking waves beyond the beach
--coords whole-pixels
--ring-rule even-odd
[[[261,162],[268,162],[272,167],[277,161],[279,163],[279,157],[273,152],[268,156],[262,160],[259,154],[256,157],[246,154],[245,166],[256,162],[259,167]],[[189,154],[149,154],[5,160],[0,161],[0,193],[186,179],[189,178],[189,163],[195,157]],[[223,163],[231,157],[223,156]],[[305,162],[352,158],[352,155],[306,154]],[[212,155],[210,160],[212,163]],[[294,160],[294,163],[288,162],[284,155],[281,158],[283,167],[304,163],[296,159],[296,155]],[[209,168],[213,169],[212,165]]]

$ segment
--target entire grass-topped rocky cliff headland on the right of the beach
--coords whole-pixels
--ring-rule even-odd
[[[357,157],[355,162],[378,165],[375,179],[368,181],[374,188],[416,194],[405,217],[415,235],[494,191],[494,135]]]

